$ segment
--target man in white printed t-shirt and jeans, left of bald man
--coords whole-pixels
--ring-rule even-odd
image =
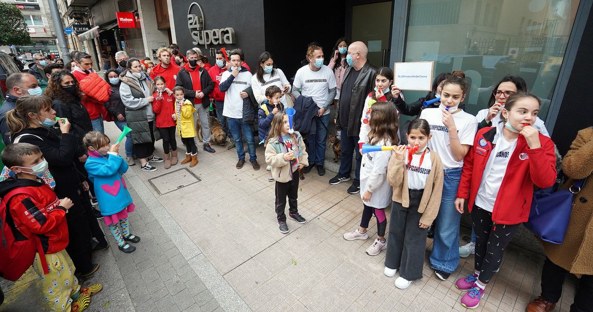
[[[326,160],[327,130],[330,121],[329,105],[336,97],[336,76],[330,67],[323,65],[323,49],[318,46],[309,46],[307,49],[308,65],[297,70],[292,95],[311,97],[319,108],[318,118],[315,120],[315,134],[311,134],[307,141],[309,153],[309,166],[303,170],[308,173],[317,165],[317,173],[324,175],[326,170],[323,165]]]

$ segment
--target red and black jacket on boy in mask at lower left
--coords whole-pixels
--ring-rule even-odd
[[[27,189],[27,191],[36,194],[34,197],[16,194],[8,203],[7,208],[21,234],[27,238],[37,234],[41,239],[45,253],[56,253],[68,246],[66,210],[59,206],[58,197],[47,184],[15,178],[7,179],[1,183],[1,196],[6,195],[12,189]]]

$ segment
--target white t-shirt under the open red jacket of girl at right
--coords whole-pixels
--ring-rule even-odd
[[[502,134],[498,136],[492,153],[490,153],[490,158],[486,162],[482,182],[480,182],[480,188],[476,196],[476,205],[483,210],[492,212],[494,209],[496,195],[498,195],[502,178],[505,176],[506,166],[511,160],[515,147],[517,147],[517,139],[509,142]]]

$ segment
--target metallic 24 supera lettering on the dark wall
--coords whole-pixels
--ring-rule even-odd
[[[195,9],[199,16],[192,14],[192,8]],[[199,12],[198,12],[199,11]],[[235,30],[232,27],[219,28],[213,30],[205,30],[204,11],[202,7],[196,2],[189,5],[187,10],[187,27],[193,37],[193,44],[203,44],[208,49],[208,44],[233,44],[237,40],[235,38]]]

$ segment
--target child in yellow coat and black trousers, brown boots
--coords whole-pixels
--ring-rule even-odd
[[[173,119],[177,121],[177,133],[181,137],[181,141],[185,144],[187,152],[186,159],[181,161],[181,165],[189,163],[190,167],[197,165],[197,146],[193,138],[196,137],[196,127],[193,124],[193,113],[196,108],[193,107],[192,102],[184,98],[184,91],[181,86],[173,88],[173,95],[175,96],[175,114]]]

